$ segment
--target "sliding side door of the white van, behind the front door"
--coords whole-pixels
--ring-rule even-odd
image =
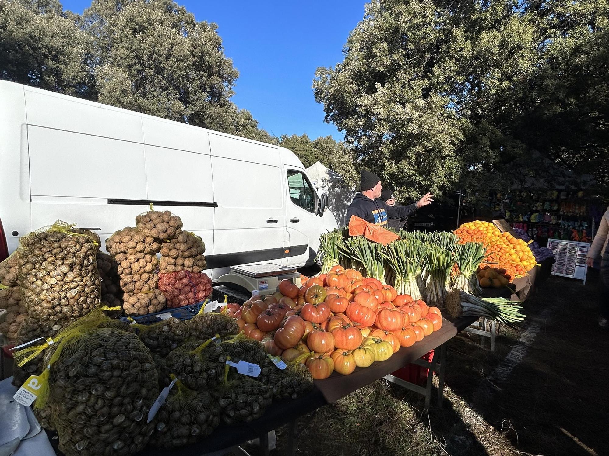
[[[286,209],[278,148],[208,133],[214,200],[213,277],[228,266],[283,264]]]

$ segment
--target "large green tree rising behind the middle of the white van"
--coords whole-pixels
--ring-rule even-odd
[[[239,74],[216,24],[172,0],[96,0],[79,23],[93,37],[101,103],[276,143],[230,101]]]

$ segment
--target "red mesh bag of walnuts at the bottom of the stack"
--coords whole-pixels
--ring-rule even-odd
[[[204,272],[166,272],[159,274],[158,289],[167,299],[167,307],[188,306],[211,294],[211,279]]]

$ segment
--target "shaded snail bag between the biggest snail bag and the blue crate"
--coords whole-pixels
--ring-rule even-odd
[[[163,357],[180,347],[190,337],[184,322],[174,317],[152,325],[135,323],[130,325],[130,328],[152,353]]]

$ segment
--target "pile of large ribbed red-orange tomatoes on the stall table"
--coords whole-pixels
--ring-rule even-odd
[[[442,327],[437,307],[342,266],[300,288],[283,280],[277,293],[229,304],[227,313],[268,353],[306,364],[314,379],[385,361]]]

